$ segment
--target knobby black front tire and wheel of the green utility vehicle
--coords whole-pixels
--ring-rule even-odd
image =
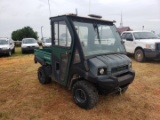
[[[75,103],[85,109],[93,108],[99,99],[97,89],[87,81],[78,81],[72,87]]]

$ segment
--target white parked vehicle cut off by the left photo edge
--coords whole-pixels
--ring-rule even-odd
[[[0,54],[11,56],[12,53],[15,53],[14,41],[8,38],[0,38]]]

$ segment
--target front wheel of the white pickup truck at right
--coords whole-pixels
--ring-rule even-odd
[[[134,58],[138,62],[143,62],[145,60],[144,52],[142,49],[137,49],[134,53]]]

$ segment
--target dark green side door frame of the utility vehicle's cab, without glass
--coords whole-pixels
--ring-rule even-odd
[[[65,47],[65,46],[59,46],[59,45],[55,45],[55,30],[54,30],[54,23],[55,22],[59,22],[59,21],[64,21],[66,23],[66,26],[68,28],[68,31],[70,33],[71,36],[71,46],[70,47]],[[52,18],[51,20],[51,38],[52,38],[52,80],[57,81],[60,84],[66,85],[67,84],[67,80],[69,77],[69,70],[70,70],[70,66],[71,66],[71,61],[72,61],[72,56],[73,56],[73,48],[74,48],[74,35],[73,35],[73,30],[72,30],[72,26],[70,25],[68,19],[64,16],[60,16],[60,17],[56,17],[56,18]],[[59,24],[58,24],[58,36],[59,36]],[[58,43],[59,43],[59,38],[58,38]],[[56,54],[54,54],[53,50],[61,50],[61,52],[59,52],[58,56],[56,56]],[[63,53],[62,53],[63,51]],[[65,51],[65,52],[64,52]],[[59,64],[59,67],[61,67],[61,62],[62,60],[60,59],[60,56],[62,54],[68,54],[68,63],[67,63],[67,68],[66,68],[66,72],[65,72],[65,77],[64,80],[60,80],[60,75],[61,75],[61,68],[59,68],[59,75],[56,75],[56,71],[55,71],[55,67],[56,64]]]

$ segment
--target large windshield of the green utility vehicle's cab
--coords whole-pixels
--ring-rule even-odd
[[[85,56],[125,53],[114,25],[74,22]]]

